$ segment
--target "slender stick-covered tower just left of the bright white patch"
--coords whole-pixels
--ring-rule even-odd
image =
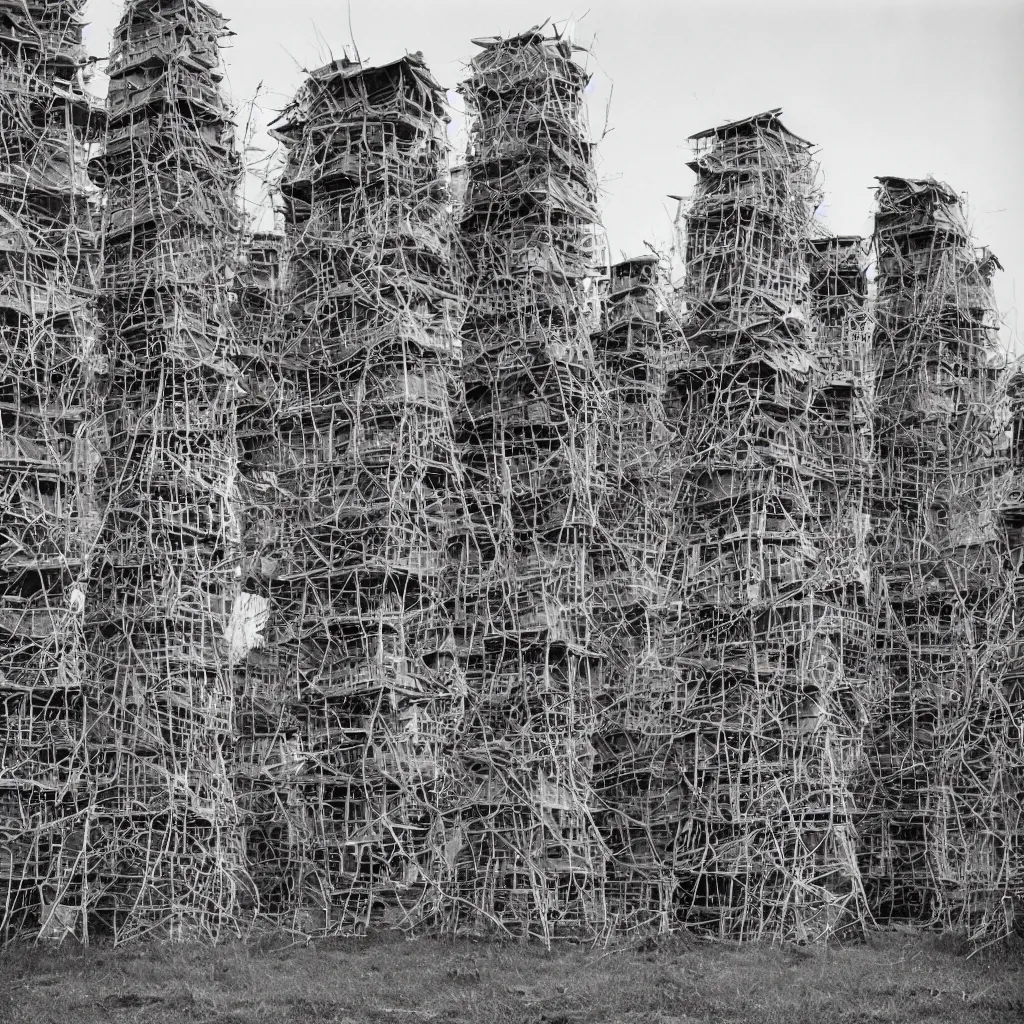
[[[198,0],[132,0],[91,165],[106,196],[110,366],[87,615],[87,844],[89,901],[119,939],[215,936],[245,886],[225,763],[238,566],[226,282],[240,175],[220,91],[225,33]]]

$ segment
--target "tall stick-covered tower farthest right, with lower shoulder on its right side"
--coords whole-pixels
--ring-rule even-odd
[[[1019,708],[1002,684],[1011,601],[995,520],[1008,463],[997,263],[973,247],[948,185],[879,180],[872,554],[883,675],[865,874],[880,919],[984,933],[1020,873],[1007,818],[1020,813]]]

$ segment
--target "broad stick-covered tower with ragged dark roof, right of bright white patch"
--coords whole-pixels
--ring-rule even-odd
[[[257,848],[268,909],[311,931],[415,924],[444,859],[462,691],[446,121],[414,54],[313,72],[275,129],[290,290],[276,519],[255,553],[278,701],[254,727],[279,781]]]

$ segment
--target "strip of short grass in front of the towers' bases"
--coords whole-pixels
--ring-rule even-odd
[[[609,949],[393,935],[215,949],[0,951],[3,1024],[863,1024],[1024,1021],[1024,943],[881,934],[820,949]]]

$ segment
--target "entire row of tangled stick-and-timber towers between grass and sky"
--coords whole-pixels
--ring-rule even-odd
[[[1024,371],[778,110],[609,264],[586,51],[309,74],[0,0],[0,938],[1024,929]],[[873,265],[873,274],[869,272]]]

